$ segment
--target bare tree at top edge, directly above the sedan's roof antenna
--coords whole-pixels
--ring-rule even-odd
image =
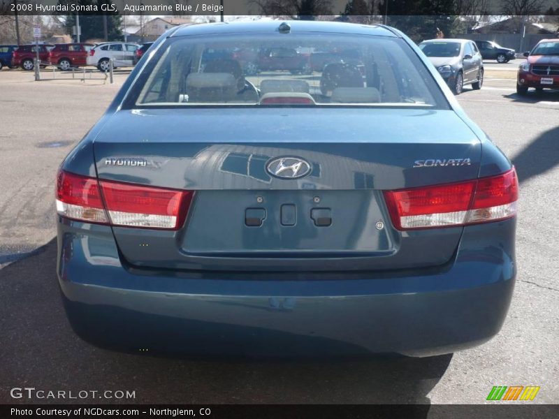
[[[317,15],[332,15],[331,0],[250,0],[262,15],[289,19],[314,19]]]

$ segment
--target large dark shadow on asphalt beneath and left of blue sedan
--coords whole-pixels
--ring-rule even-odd
[[[55,239],[0,270],[0,403],[429,404],[428,393],[452,358],[224,361],[106,351],[71,330],[55,272]],[[10,397],[10,388],[24,386],[75,393],[129,390],[136,398]],[[428,409],[418,413],[426,417]]]

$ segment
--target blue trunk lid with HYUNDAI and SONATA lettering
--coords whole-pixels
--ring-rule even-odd
[[[121,110],[94,153],[100,179],[196,191],[180,230],[113,227],[132,265],[384,270],[446,263],[463,228],[399,232],[382,190],[474,179],[481,144],[451,110],[189,108]],[[284,156],[310,173],[270,175]]]

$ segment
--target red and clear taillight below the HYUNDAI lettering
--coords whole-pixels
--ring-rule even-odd
[[[57,212],[61,216],[112,226],[165,228],[182,226],[192,191],[154,188],[60,171]]]

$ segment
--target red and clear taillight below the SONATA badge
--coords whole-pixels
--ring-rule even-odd
[[[384,198],[398,230],[463,226],[515,216],[518,179],[512,168],[467,182],[384,191]]]

